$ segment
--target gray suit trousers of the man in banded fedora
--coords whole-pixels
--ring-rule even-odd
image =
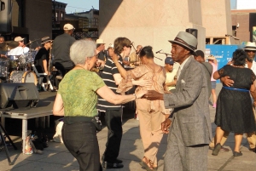
[[[175,118],[168,136],[164,171],[206,171],[208,145],[185,146]]]

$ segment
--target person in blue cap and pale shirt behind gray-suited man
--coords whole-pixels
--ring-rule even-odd
[[[173,69],[174,61],[171,57],[166,57],[165,69],[166,69],[166,87],[169,91],[175,91],[175,85],[177,83],[177,70]]]

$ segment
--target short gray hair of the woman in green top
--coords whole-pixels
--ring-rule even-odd
[[[91,58],[96,53],[96,43],[91,40],[78,40],[70,47],[70,59],[75,65],[85,64],[87,58]]]

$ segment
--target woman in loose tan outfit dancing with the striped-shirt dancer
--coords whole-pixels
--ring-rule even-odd
[[[137,86],[135,92],[141,90],[155,90],[161,94],[165,92],[166,71],[162,66],[154,63],[154,53],[152,47],[147,46],[142,48],[139,54],[142,61],[141,66],[135,69],[125,71],[119,64],[118,56],[113,55],[113,62],[118,67],[123,79],[119,83],[117,92],[125,94],[126,91],[132,88],[132,81],[150,80],[150,83],[144,86]],[[167,91],[167,90],[166,90]],[[161,123],[170,116],[170,110],[165,108],[163,100],[136,100],[137,115],[140,122],[140,134],[143,140],[144,157],[140,164],[147,170],[157,169],[156,154],[163,137]]]

